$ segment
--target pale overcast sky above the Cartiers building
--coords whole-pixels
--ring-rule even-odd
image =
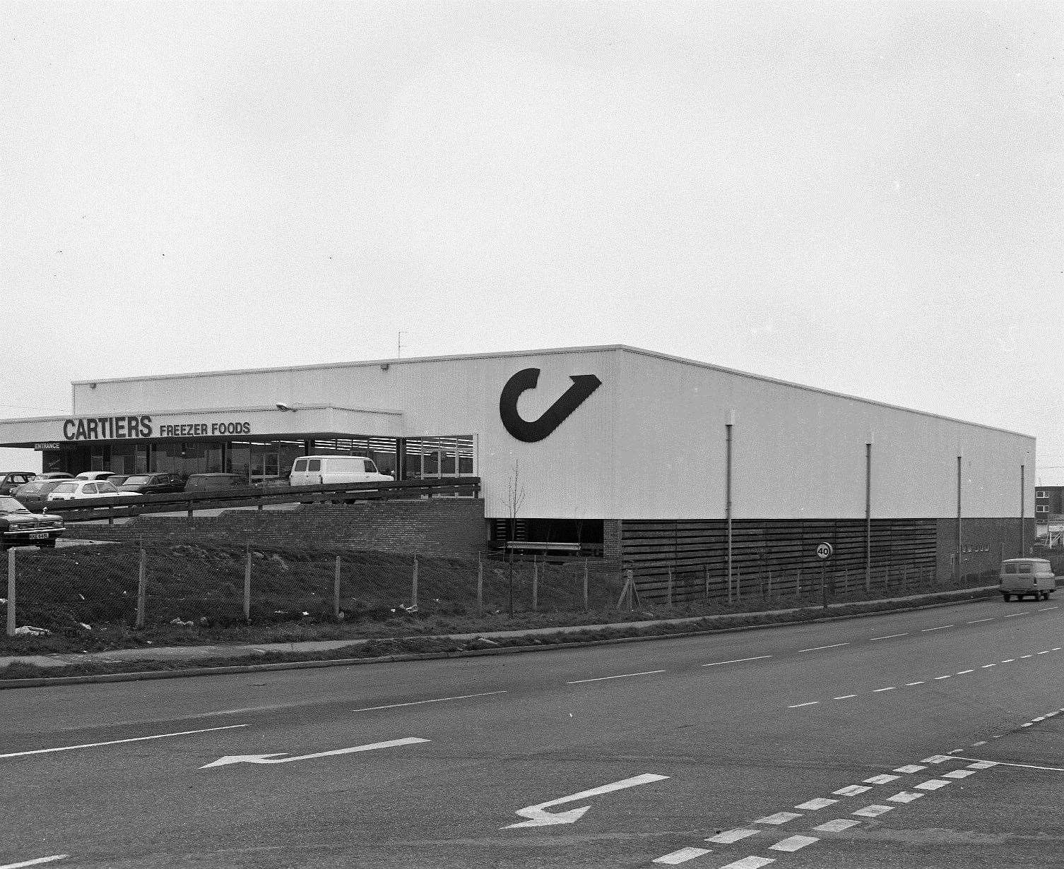
[[[1032,434],[1064,482],[1058,3],[2,15],[0,417],[400,331],[622,342]]]

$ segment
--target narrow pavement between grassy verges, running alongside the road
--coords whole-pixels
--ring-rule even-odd
[[[90,542],[90,541],[85,541]],[[893,598],[892,601],[909,603],[913,606],[928,605],[930,601],[941,601],[943,598],[966,598],[974,591],[983,592],[992,590],[997,586],[982,586],[979,588],[967,588],[960,589],[958,591],[950,592],[938,592],[935,595],[911,595],[902,598]],[[808,607],[807,607],[808,608]],[[844,613],[846,611],[852,609],[852,604],[847,603],[832,603],[828,605],[829,613]],[[758,613],[757,615],[765,616],[767,618],[785,618],[786,616],[800,612],[796,608],[785,608],[785,609],[771,609],[763,613]],[[580,625],[564,625],[558,628],[532,628],[522,629],[517,631],[487,631],[479,633],[465,633],[465,634],[444,634],[437,636],[420,636],[418,639],[450,639],[454,641],[467,641],[471,639],[477,639],[478,637],[483,637],[487,639],[502,639],[502,638],[513,638],[513,637],[536,637],[545,636],[549,634],[576,634],[585,631],[600,631],[610,629],[646,629],[654,628],[662,624],[675,625],[682,630],[684,625],[694,625],[695,622],[701,622],[699,629],[703,629],[703,625],[712,625],[714,622],[718,622],[721,625],[721,630],[734,620],[734,616],[697,616],[692,618],[680,618],[680,619],[649,619],[645,621],[629,621],[620,623],[608,623],[608,624],[580,624]],[[410,635],[405,635],[409,637]],[[129,662],[129,661],[159,661],[159,662],[174,662],[174,661],[198,661],[204,658],[253,658],[257,655],[262,655],[268,652],[284,652],[286,654],[300,654],[300,655],[314,655],[318,652],[332,652],[336,649],[356,649],[360,646],[364,646],[367,642],[380,642],[382,640],[386,641],[388,639],[400,639],[403,637],[373,637],[367,639],[329,639],[329,640],[303,640],[296,642],[260,642],[250,645],[207,645],[207,646],[159,646],[159,647],[137,647],[134,649],[114,649],[103,652],[76,652],[76,653],[51,653],[44,655],[0,655],[0,668],[10,666],[11,664],[29,664],[41,668],[62,668],[71,664],[109,664],[117,662]],[[247,663],[247,662],[242,662]],[[0,867],[2,869],[2,867]]]

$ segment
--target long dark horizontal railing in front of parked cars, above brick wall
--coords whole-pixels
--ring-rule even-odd
[[[330,483],[318,486],[253,486],[209,491],[177,491],[166,495],[144,495],[137,498],[105,496],[78,501],[52,501],[45,505],[50,515],[64,522],[89,522],[106,519],[114,522],[131,516],[150,513],[185,512],[189,519],[198,509],[257,507],[269,504],[313,504],[327,501],[410,500],[440,496],[480,497],[479,477],[442,477],[432,480],[400,480],[375,483]]]

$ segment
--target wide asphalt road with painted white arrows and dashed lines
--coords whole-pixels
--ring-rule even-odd
[[[0,869],[1055,868],[1062,628],[995,600],[2,691]]]

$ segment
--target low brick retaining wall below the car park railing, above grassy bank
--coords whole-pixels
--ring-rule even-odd
[[[376,550],[468,557],[484,549],[484,502],[473,498],[305,504],[226,511],[217,517],[142,516],[127,524],[70,524],[68,537],[98,540],[216,540],[306,549]]]

